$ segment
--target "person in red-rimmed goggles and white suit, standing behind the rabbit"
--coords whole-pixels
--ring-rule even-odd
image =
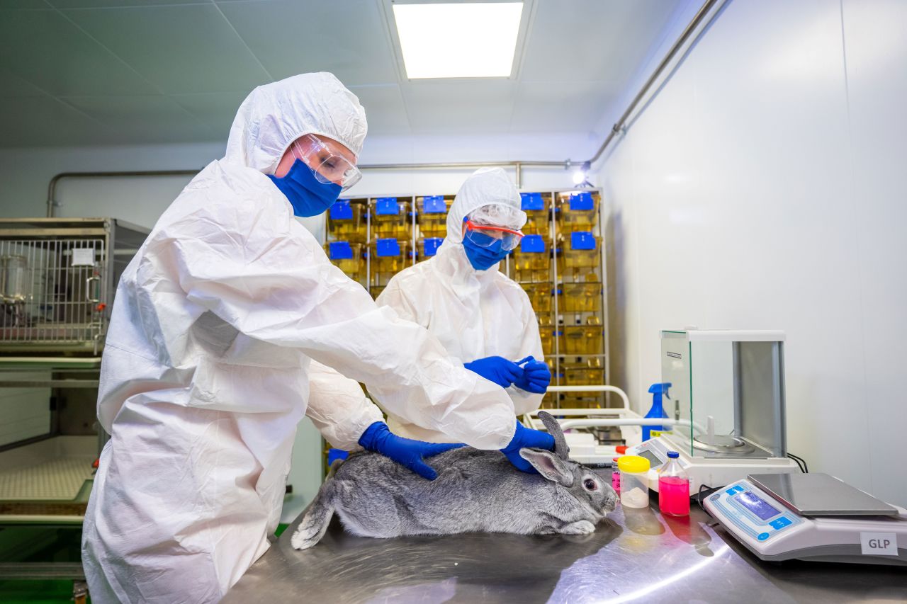
[[[525,414],[539,408],[551,371],[529,297],[498,270],[522,239],[520,208],[504,170],[476,170],[453,200],[437,255],[397,273],[377,302],[424,326],[467,368],[507,388],[516,413]],[[451,442],[427,417],[406,420],[388,409],[388,424],[395,434]]]

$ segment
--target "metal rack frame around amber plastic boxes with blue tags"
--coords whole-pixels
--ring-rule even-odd
[[[599,262],[598,266],[593,270],[587,272],[587,276],[594,274],[598,279],[597,281],[585,281],[588,283],[599,283],[600,284],[600,305],[599,310],[594,311],[578,311],[578,312],[567,312],[563,309],[561,300],[563,299],[563,286],[565,284],[575,283],[577,281],[572,280],[573,276],[568,274],[563,274],[561,271],[561,256],[564,253],[564,242],[565,239],[563,236],[566,234],[570,236],[570,230],[562,229],[561,221],[561,207],[569,199],[571,193],[577,192],[589,192],[595,200],[595,216],[592,224],[592,234],[596,238],[598,253],[599,253]],[[551,320],[551,329],[553,330],[553,349],[551,350],[551,355],[548,355],[549,364],[552,367],[552,380],[551,385],[567,385],[567,378],[565,375],[565,370],[569,369],[571,366],[576,363],[589,362],[590,359],[600,359],[600,371],[604,379],[602,383],[607,385],[610,380],[610,359],[607,354],[607,351],[610,347],[610,337],[607,329],[608,325],[608,296],[607,296],[607,263],[605,261],[604,249],[606,248],[605,242],[603,240],[603,229],[601,227],[601,190],[598,189],[562,189],[562,190],[542,190],[542,191],[524,191],[524,192],[538,192],[542,196],[545,196],[551,200],[548,208],[549,219],[548,219],[548,238],[551,241],[551,249],[548,253],[551,254],[551,265],[549,278],[551,280],[551,312],[547,313]],[[411,195],[411,196],[368,196],[360,198],[351,198],[347,201],[350,204],[362,204],[362,211],[365,213],[367,219],[365,220],[365,244],[363,246],[363,255],[364,258],[360,258],[364,261],[365,271],[364,273],[358,271],[356,275],[350,275],[352,278],[355,278],[363,287],[376,297],[375,289],[378,287],[384,287],[386,285],[385,280],[381,282],[376,282],[373,278],[373,259],[375,254],[375,237],[373,234],[373,225],[371,217],[373,214],[373,209],[375,209],[376,200],[385,199],[388,197],[395,197],[397,201],[406,202],[409,204],[409,223],[410,229],[406,239],[409,240],[410,246],[410,257],[408,262],[405,262],[406,266],[413,266],[416,262],[425,259],[418,257],[418,242],[421,239],[421,233],[419,230],[419,223],[417,217],[417,200],[423,198],[423,195]],[[453,195],[444,195],[445,200],[453,199]],[[445,214],[446,216],[446,214]],[[328,221],[330,220],[330,215],[328,214]],[[327,225],[325,226],[324,239],[326,241],[326,248],[330,241],[338,240],[332,239],[330,237],[330,229]],[[361,239],[361,237],[360,237]],[[342,240],[342,239],[340,239]],[[503,265],[502,272],[508,275],[511,278],[515,278],[515,270],[513,268],[512,259],[508,256]],[[349,274],[349,273],[348,273]],[[538,283],[539,281],[528,281],[521,282],[521,285],[528,285],[530,283]],[[545,281],[547,282],[547,281]],[[380,290],[379,290],[380,291]],[[543,315],[541,315],[543,316]],[[563,327],[568,325],[577,325],[577,321],[581,321],[589,318],[596,317],[600,321],[600,326],[603,331],[602,335],[602,345],[600,351],[595,354],[583,354],[583,355],[573,355],[568,356],[565,352],[566,346],[564,346],[565,341],[563,337]],[[572,359],[572,360],[571,360]],[[598,371],[599,367],[590,367],[591,370]],[[576,407],[576,406],[589,406],[589,407],[605,407],[607,406],[607,399],[605,393],[549,393],[546,395],[545,402],[543,406],[545,407],[561,407],[566,406]]]

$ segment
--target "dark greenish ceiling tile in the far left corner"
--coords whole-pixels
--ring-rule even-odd
[[[54,10],[0,11],[0,63],[51,94],[154,92]]]

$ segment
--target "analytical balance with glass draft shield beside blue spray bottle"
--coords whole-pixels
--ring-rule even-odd
[[[668,432],[627,451],[651,463],[649,488],[658,490],[668,451],[680,453],[691,495],[750,473],[800,472],[787,457],[784,340],[781,331],[661,332]]]

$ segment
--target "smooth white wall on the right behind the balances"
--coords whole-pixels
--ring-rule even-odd
[[[599,174],[614,381],[645,400],[661,328],[784,329],[790,451],[901,505],[905,29],[898,0],[733,0]]]

